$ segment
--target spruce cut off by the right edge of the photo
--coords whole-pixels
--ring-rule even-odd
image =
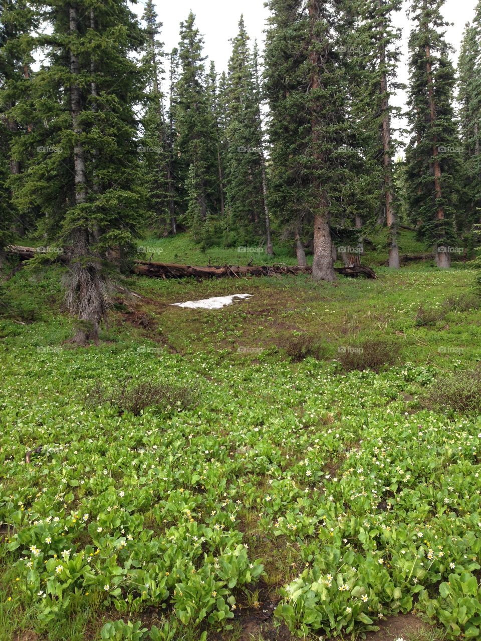
[[[477,224],[481,215],[481,2],[467,24],[459,54],[460,126],[465,169],[467,219]]]

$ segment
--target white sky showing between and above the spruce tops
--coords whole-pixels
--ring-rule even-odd
[[[475,12],[477,0],[446,0],[443,6],[444,17],[453,25],[446,29],[446,40],[456,49],[454,60],[457,62],[462,32],[466,22],[471,21]],[[404,9],[395,16],[396,26],[403,29],[401,48],[403,60],[398,70],[398,78],[406,83],[407,76],[407,42],[410,32],[410,21],[406,9],[410,0],[404,0]],[[135,11],[142,14],[144,2],[139,0]],[[205,55],[214,60],[217,72],[226,71],[230,56],[229,39],[237,33],[237,25],[241,13],[244,14],[246,29],[252,40],[257,38],[262,51],[264,44],[264,29],[269,11],[264,7],[264,0],[171,0],[164,2],[156,0],[157,13],[163,22],[162,40],[165,51],[177,46],[179,40],[179,24],[187,18],[190,9],[196,15],[196,24],[205,41]],[[405,95],[400,94],[393,103],[405,108]]]

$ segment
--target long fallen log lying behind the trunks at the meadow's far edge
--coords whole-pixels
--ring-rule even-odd
[[[30,260],[38,253],[35,247],[22,247],[19,245],[10,245],[6,248],[8,254],[19,256],[21,260]],[[53,260],[65,262],[66,254],[58,254]],[[335,267],[335,271],[343,276],[357,278],[376,278],[375,272],[371,267],[364,265],[350,265],[348,267]],[[217,265],[201,267],[196,265],[176,265],[175,263],[152,263],[144,260],[136,260],[133,271],[141,276],[151,278],[241,278],[242,276],[275,276],[277,274],[312,274],[312,267],[298,267],[297,265]]]

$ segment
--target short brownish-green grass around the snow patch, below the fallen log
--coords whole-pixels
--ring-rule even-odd
[[[400,362],[449,368],[454,360],[472,363],[480,358],[478,311],[443,308],[443,325],[438,327],[419,325],[419,306],[436,310],[446,297],[467,296],[474,276],[469,269],[440,272],[421,265],[394,273],[378,268],[375,281],[341,277],[337,287],[313,283],[308,276],[203,283],[150,279],[132,281],[131,286],[147,299],[142,310],[156,328],[150,336],[180,353],[203,349],[214,357],[222,351],[224,358],[245,363],[259,360],[257,350],[263,349],[264,362],[278,358],[277,348],[282,350],[285,340],[298,333],[332,359],[339,349],[380,337],[396,341]],[[254,296],[246,304],[235,303],[208,315],[169,306],[234,293]],[[239,353],[239,347],[246,349]]]

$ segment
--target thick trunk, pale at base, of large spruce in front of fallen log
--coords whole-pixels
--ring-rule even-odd
[[[319,0],[310,0],[308,6],[311,32],[314,38],[314,26],[321,14],[319,11]],[[309,54],[312,64],[312,77],[310,79],[310,90],[319,88],[319,52],[313,49]],[[324,162],[323,154],[319,151],[319,122],[317,122],[316,110],[313,110],[312,117],[312,144],[314,146],[314,157],[316,162]],[[329,229],[329,205],[327,194],[323,185],[317,184],[316,191],[319,195],[319,204],[314,213],[314,257],[312,260],[312,278],[314,280],[325,280],[330,283],[335,281],[334,265],[332,260],[332,238]]]

